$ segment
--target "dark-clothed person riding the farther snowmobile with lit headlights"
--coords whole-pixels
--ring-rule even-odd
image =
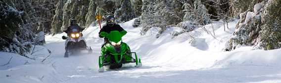
[[[79,32],[82,32],[85,28],[81,28],[80,26],[78,26],[78,24],[76,24],[75,19],[71,19],[70,26],[66,30],[64,30],[64,32],[67,33],[67,35],[70,35],[72,29],[77,29]]]

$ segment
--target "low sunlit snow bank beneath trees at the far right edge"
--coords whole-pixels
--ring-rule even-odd
[[[242,48],[240,48],[241,50]],[[248,49],[248,48],[247,48]],[[224,53],[226,57],[216,62],[214,66],[280,66],[281,49],[264,51],[248,50]]]

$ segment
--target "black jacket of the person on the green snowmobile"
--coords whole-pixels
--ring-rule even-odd
[[[114,24],[112,27],[106,25],[99,30],[98,35],[99,35],[100,38],[103,38],[102,36],[100,36],[100,32],[104,31],[104,32],[110,33],[110,31],[114,31],[114,30],[117,30],[117,31],[121,32],[124,29],[118,24]]]

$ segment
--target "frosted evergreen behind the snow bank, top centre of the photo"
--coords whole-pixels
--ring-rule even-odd
[[[152,27],[158,27],[161,30],[156,37],[159,37],[169,26],[180,23],[181,16],[177,15],[174,3],[174,0],[143,0],[146,6],[142,6],[141,34],[144,35]]]

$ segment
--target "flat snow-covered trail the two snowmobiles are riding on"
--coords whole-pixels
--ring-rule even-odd
[[[62,44],[62,45],[61,45]],[[63,46],[63,43],[48,44],[47,48]],[[94,45],[90,45],[94,47]],[[98,49],[99,45],[96,46]],[[109,70],[98,73],[97,57],[99,51],[94,50],[91,55],[71,55],[63,57],[63,51],[55,48],[51,58],[54,69],[58,73],[61,83],[247,83],[247,82],[281,82],[280,67],[264,65],[242,65],[218,69],[196,69],[184,70],[180,65],[169,67],[170,65],[153,66],[155,64],[145,62],[143,67],[133,66],[122,67],[120,69]],[[235,54],[234,54],[235,55]],[[183,65],[187,67],[187,65]],[[178,67],[178,68],[176,68]],[[191,66],[192,67],[192,66]],[[265,81],[265,82],[264,82]]]

